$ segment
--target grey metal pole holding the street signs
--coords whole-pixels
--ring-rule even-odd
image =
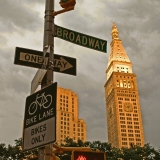
[[[44,37],[43,37],[43,58],[49,52],[47,72],[41,82],[41,88],[53,83],[53,59],[54,59],[54,0],[46,0],[44,16]],[[42,66],[42,69],[44,66]],[[46,66],[45,66],[46,67]],[[38,151],[38,160],[50,160],[52,157],[52,147],[47,145]],[[54,157],[53,157],[54,159]]]

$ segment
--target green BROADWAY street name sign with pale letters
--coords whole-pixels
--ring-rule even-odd
[[[60,26],[55,25],[56,35],[58,38],[72,42],[74,44],[94,49],[101,52],[107,52],[107,41],[92,37],[86,34],[75,32]]]

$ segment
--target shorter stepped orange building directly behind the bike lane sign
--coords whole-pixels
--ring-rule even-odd
[[[86,141],[86,123],[78,118],[78,96],[69,89],[57,88],[57,143],[66,137]]]

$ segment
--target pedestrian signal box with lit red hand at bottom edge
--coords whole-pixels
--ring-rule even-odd
[[[73,151],[72,160],[106,160],[106,154],[97,151]]]

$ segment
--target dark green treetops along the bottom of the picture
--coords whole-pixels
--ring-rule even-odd
[[[28,152],[22,152],[20,150],[22,146],[22,139],[15,140],[15,146],[4,143],[0,144],[0,160],[22,160],[23,158],[29,158],[32,155],[38,155],[38,150],[32,150]],[[117,149],[112,147],[107,142],[93,141],[82,142],[78,140],[74,142],[73,139],[67,137],[64,141],[63,147],[90,147],[91,150],[103,151],[106,153],[107,160],[160,160],[160,150],[155,150],[150,144],[145,144],[143,147],[132,145],[130,148]],[[61,160],[71,160],[71,152],[65,152],[61,155],[57,154]]]

